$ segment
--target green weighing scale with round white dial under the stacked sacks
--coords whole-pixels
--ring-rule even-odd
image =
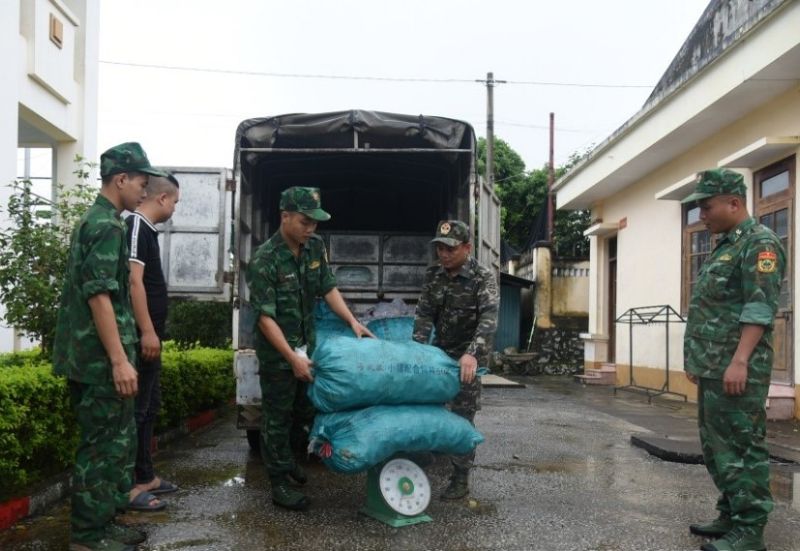
[[[367,471],[367,502],[359,512],[399,528],[431,522],[425,514],[430,501],[425,471],[408,459],[392,459]]]

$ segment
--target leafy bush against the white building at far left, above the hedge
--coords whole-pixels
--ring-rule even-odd
[[[42,354],[49,354],[53,344],[72,227],[96,194],[89,184],[92,165],[80,156],[75,162],[78,183],[57,185],[55,202],[34,194],[29,180],[10,184],[9,225],[0,228],[3,320],[38,339]]]

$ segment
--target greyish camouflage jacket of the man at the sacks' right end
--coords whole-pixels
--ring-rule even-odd
[[[417,303],[414,340],[428,342],[435,327],[433,345],[451,358],[475,356],[486,366],[497,330],[497,278],[470,257],[455,277],[441,266],[431,266]]]

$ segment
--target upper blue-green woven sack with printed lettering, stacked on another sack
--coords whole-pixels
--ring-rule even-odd
[[[383,404],[444,404],[458,394],[458,362],[414,341],[329,336],[312,357],[308,397],[321,412]]]

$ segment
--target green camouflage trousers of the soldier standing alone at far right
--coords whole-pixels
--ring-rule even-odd
[[[747,383],[744,395],[728,396],[721,380],[699,382],[703,459],[720,492],[717,510],[734,525],[763,527],[774,505],[765,442],[768,390],[769,385]]]

